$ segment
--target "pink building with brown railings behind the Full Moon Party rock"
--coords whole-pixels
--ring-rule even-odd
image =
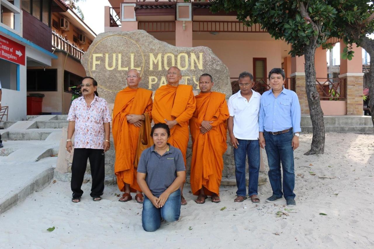
[[[282,67],[286,74],[285,87],[294,90],[302,114],[309,114],[305,92],[304,58],[288,55],[291,46],[273,39],[260,25],[245,27],[235,12],[212,13],[209,1],[184,0],[109,0],[106,6],[105,31],[145,30],[156,39],[174,46],[207,46],[226,64],[231,81],[239,73],[254,75],[254,89],[262,93],[269,89],[267,74]],[[341,43],[337,39],[332,42]],[[326,50],[316,51],[316,87],[325,116],[362,115],[362,49],[354,48],[351,61],[340,60],[340,74],[328,78]],[[213,76],[214,77],[214,76]]]

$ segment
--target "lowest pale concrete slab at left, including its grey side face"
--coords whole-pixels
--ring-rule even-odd
[[[57,157],[33,163],[1,165],[0,214],[26,199],[34,191],[42,190],[53,179]]]

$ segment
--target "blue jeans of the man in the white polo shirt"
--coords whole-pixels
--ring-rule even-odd
[[[245,159],[248,156],[249,185],[248,195],[257,194],[258,170],[260,170],[260,145],[258,140],[237,139],[239,145],[234,148],[235,178],[237,196],[246,196]]]

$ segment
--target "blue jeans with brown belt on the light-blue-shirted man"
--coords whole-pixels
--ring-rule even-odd
[[[273,195],[285,199],[295,198],[295,169],[294,150],[291,147],[294,133],[290,130],[287,133],[272,135],[264,131],[265,150],[267,161],[269,162],[269,180],[272,185]],[[283,170],[283,193],[282,174]]]

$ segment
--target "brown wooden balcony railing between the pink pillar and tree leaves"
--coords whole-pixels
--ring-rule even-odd
[[[245,26],[238,21],[194,21],[192,24],[194,32],[232,32],[232,33],[267,33],[260,24],[251,27]]]

